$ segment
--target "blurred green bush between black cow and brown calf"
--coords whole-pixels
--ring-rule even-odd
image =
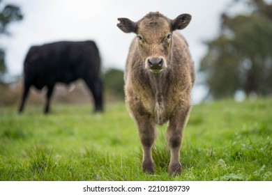
[[[123,71],[115,68],[107,70],[103,75],[106,94],[113,95],[115,99],[123,99]]]

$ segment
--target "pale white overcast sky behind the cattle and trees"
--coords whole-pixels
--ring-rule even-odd
[[[20,6],[24,19],[10,24],[11,36],[1,36],[6,49],[8,75],[22,75],[24,57],[31,45],[60,40],[94,40],[100,49],[103,69],[124,70],[133,33],[123,33],[118,17],[137,21],[149,12],[159,11],[170,19],[182,13],[192,15],[190,24],[180,31],[188,41],[196,70],[206,54],[204,41],[215,38],[220,14],[233,0],[3,0]],[[239,10],[239,8],[238,8]],[[198,79],[198,78],[197,78]],[[206,95],[204,86],[195,86],[192,100]]]

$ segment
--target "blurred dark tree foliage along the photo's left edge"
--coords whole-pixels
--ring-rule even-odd
[[[0,7],[2,4],[2,0],[0,0]],[[8,32],[8,24],[10,22],[20,21],[23,16],[19,7],[7,4],[0,10],[0,35],[10,35]],[[5,63],[5,50],[0,48],[0,83],[3,83],[3,75],[5,75],[7,71],[6,63]]]

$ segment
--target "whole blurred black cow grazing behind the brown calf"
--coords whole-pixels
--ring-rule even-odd
[[[24,109],[29,88],[47,87],[44,112],[50,111],[50,98],[56,83],[69,84],[83,79],[93,94],[95,111],[103,111],[103,84],[100,79],[100,56],[96,43],[53,42],[29,49],[24,60],[24,93],[19,112]]]

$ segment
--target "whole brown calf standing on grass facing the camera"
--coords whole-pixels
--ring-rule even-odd
[[[156,139],[156,125],[169,121],[168,172],[180,174],[179,150],[190,112],[195,70],[186,40],[175,30],[184,29],[191,16],[182,14],[169,20],[160,13],[149,13],[138,22],[128,18],[118,20],[119,29],[137,35],[126,61],[125,92],[143,147],[142,169],[154,173],[151,148]]]

